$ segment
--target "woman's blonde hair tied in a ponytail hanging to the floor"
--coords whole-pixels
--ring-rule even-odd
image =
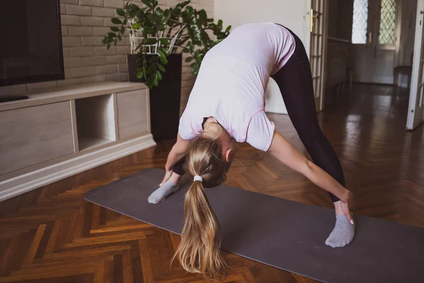
[[[216,139],[199,137],[192,142],[185,166],[189,175],[199,175],[203,182],[194,180],[185,195],[185,224],[174,258],[187,272],[220,279],[226,267],[220,254],[220,225],[204,187],[216,187],[225,181],[229,164]]]

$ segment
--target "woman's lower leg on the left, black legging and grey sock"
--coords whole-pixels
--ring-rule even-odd
[[[150,197],[148,197],[148,202],[158,204],[159,202],[165,200],[165,198],[168,195],[172,194],[172,192],[176,192],[179,189],[178,182],[181,179],[182,175],[185,174],[184,162],[185,157],[178,161],[177,164],[175,164],[170,179],[167,180],[164,184],[160,185],[158,190],[155,190],[150,195]]]

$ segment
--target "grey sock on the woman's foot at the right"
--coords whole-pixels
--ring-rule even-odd
[[[354,236],[355,224],[349,223],[346,215],[336,215],[336,225],[325,244],[332,248],[341,248],[351,243]]]

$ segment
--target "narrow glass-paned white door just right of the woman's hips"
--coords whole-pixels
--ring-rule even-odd
[[[317,111],[321,111],[324,108],[327,3],[327,0],[311,0],[310,64]]]

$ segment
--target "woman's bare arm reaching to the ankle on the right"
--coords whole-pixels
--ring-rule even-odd
[[[350,199],[351,192],[349,190],[300,154],[280,133],[274,133],[269,152],[289,168],[305,175],[315,185],[322,187],[327,192],[331,192],[342,202],[348,202]]]

